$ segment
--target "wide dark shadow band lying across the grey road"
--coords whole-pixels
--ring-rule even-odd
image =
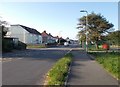
[[[68,50],[41,50],[41,49],[27,49],[22,51],[15,51],[11,53],[4,53],[3,58],[32,58],[32,59],[46,59],[46,58],[61,58]]]

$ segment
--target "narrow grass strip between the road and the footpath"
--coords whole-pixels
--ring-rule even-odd
[[[45,85],[64,85],[72,57],[72,54],[68,53],[55,63],[52,69],[47,73]]]

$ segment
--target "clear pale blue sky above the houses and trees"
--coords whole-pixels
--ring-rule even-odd
[[[40,33],[46,30],[53,36],[76,39],[78,18],[90,14],[103,15],[118,29],[117,2],[1,2],[0,16],[10,24],[35,28]]]

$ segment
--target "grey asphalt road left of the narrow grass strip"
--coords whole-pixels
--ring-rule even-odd
[[[3,54],[3,85],[43,85],[45,74],[69,48],[27,49]]]

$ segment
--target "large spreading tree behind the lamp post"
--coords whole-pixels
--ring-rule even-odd
[[[109,23],[109,21],[104,18],[101,14],[95,14],[94,12],[88,14],[88,25],[86,30],[86,16],[83,16],[79,19],[78,29],[80,29],[78,36],[82,41],[85,41],[86,31],[87,33],[87,41],[93,42],[98,48],[99,41],[102,40],[102,36],[107,34],[113,30],[113,24]],[[83,28],[81,28],[81,26]]]

